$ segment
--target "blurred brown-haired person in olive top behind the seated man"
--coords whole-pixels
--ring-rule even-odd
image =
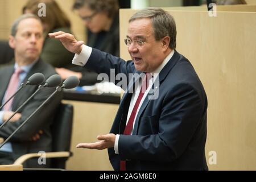
[[[64,31],[72,34],[71,22],[53,0],[29,0],[23,7],[23,14],[32,13],[38,15],[39,3],[46,5],[46,16],[39,17],[42,20],[45,35],[41,58],[53,65],[53,67],[70,68],[72,67],[73,53],[67,51],[60,42],[50,39],[48,33]]]

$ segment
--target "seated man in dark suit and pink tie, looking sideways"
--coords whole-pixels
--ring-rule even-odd
[[[48,78],[56,74],[51,65],[40,60],[43,46],[43,26],[40,19],[32,14],[20,16],[15,20],[9,38],[10,47],[14,49],[15,65],[0,70],[1,105],[9,98],[22,82],[34,73],[43,73]],[[20,70],[18,75],[17,70]],[[15,83],[16,76],[16,86]],[[15,87],[15,88],[14,88]],[[26,86],[0,111],[0,125],[14,113],[34,92],[38,86]],[[19,113],[0,130],[0,137],[8,138],[22,123],[54,92],[54,88],[40,90]],[[34,115],[2,148],[0,148],[0,164],[13,164],[15,159],[27,153],[51,151],[51,123],[55,109],[59,106],[61,94],[52,98],[38,113]],[[40,135],[39,135],[40,134]],[[43,161],[43,160],[42,160]],[[49,163],[39,165],[38,159],[30,159],[23,167],[48,167]]]

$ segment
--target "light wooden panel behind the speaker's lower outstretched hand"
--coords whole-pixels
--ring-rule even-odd
[[[95,102],[65,101],[74,106],[73,133],[71,151],[73,156],[67,162],[69,170],[113,170],[107,150],[89,150],[76,148],[79,143],[96,142],[100,134],[108,134],[117,104]]]

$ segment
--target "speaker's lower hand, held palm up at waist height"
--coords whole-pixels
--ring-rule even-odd
[[[115,144],[115,134],[99,135],[97,137],[98,142],[95,143],[79,143],[76,148],[89,148],[104,150],[105,148],[112,148]]]

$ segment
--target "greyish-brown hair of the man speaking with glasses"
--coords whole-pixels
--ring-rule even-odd
[[[155,40],[160,40],[164,36],[170,37],[169,47],[171,49],[176,48],[176,24],[174,17],[168,14],[167,11],[156,7],[148,7],[135,13],[129,19],[129,23],[136,19],[150,18],[151,24],[154,29]]]

